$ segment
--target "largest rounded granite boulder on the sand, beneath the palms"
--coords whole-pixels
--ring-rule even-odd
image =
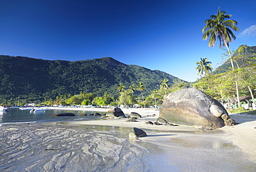
[[[181,89],[165,98],[159,119],[177,125],[188,125],[217,129],[235,125],[226,109],[214,98],[199,89]]]

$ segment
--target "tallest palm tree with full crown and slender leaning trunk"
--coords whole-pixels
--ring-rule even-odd
[[[235,40],[235,34],[232,30],[239,31],[237,28],[237,21],[231,20],[231,14],[226,14],[225,11],[221,11],[220,8],[217,10],[217,15],[211,15],[210,19],[205,20],[205,27],[203,27],[203,40],[209,39],[209,47],[213,47],[216,40],[219,39],[219,47],[226,47],[228,50],[228,55],[230,57],[230,63],[232,69],[234,69],[234,64],[232,61],[232,55],[229,49],[229,43]],[[237,100],[238,106],[240,107],[239,92],[237,80],[235,80],[235,86],[237,89]]]

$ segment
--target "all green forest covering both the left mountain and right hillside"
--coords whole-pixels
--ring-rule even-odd
[[[196,87],[213,98],[235,102],[239,95],[255,95],[256,46],[241,45],[233,52],[235,70],[226,61],[194,83],[159,70],[125,65],[111,57],[86,61],[46,61],[0,56],[1,105],[161,105],[167,94]]]

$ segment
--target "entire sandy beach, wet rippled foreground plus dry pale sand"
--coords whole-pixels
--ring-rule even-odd
[[[146,121],[158,118],[155,109],[122,111],[137,112],[142,118],[138,122],[99,119],[2,125],[0,170],[255,171],[255,115],[232,114],[239,124],[202,131],[197,127],[146,125]],[[143,129],[147,137],[129,139],[132,127]]]

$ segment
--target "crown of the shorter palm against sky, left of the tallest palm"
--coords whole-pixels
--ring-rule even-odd
[[[201,58],[201,61],[196,62],[196,70],[200,76],[203,76],[205,74],[209,74],[209,72],[212,72],[212,62],[208,61],[208,58]]]

